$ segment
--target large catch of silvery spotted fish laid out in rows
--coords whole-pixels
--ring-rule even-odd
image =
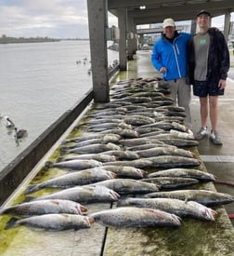
[[[174,105],[167,84],[157,78],[120,81],[110,102],[94,103],[62,141],[57,161],[43,171],[65,174],[26,187],[25,201],[0,209],[19,225],[65,230],[93,222],[116,227],[180,226],[182,218],[215,221],[217,207],[234,196],[199,189],[215,176],[200,170],[198,145],[184,126],[184,109]],[[58,192],[32,196],[46,188]],[[88,212],[92,203],[112,209]]]

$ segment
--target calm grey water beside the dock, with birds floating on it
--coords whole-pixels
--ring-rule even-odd
[[[1,170],[92,88],[92,75],[89,41],[0,45],[0,56],[0,115],[28,130],[17,143],[0,119]],[[108,50],[109,64],[118,58]]]

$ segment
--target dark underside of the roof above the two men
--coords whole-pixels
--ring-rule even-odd
[[[140,9],[140,7],[145,7]],[[162,22],[171,17],[176,21],[194,20],[201,9],[208,10],[212,17],[234,11],[233,0],[108,0],[108,10],[118,17],[120,10],[126,9],[127,15],[136,25]]]

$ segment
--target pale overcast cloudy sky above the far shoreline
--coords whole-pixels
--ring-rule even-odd
[[[117,1],[117,0],[116,0]],[[231,20],[234,20],[233,13]],[[213,26],[221,27],[223,17]],[[109,14],[109,26],[117,19]],[[86,0],[0,0],[0,36],[87,38]]]

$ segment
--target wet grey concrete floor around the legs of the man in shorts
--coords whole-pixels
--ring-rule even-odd
[[[234,72],[232,72],[234,77]],[[197,97],[192,97],[191,115],[193,130],[197,131],[201,127],[200,103]],[[202,139],[198,146],[202,161],[208,172],[215,174],[217,181],[232,182],[230,184],[215,184],[218,192],[234,195],[234,80],[228,78],[228,87],[225,95],[219,98],[219,119],[218,132],[223,141],[222,146],[218,146],[209,140],[209,136]],[[210,129],[210,122],[208,125]],[[228,214],[234,213],[234,204],[225,207]],[[234,220],[231,220],[234,224]]]

